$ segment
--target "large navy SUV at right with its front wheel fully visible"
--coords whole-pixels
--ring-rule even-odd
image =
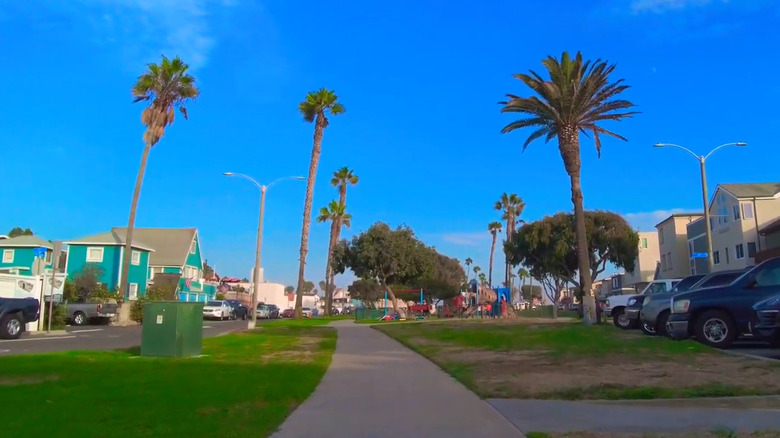
[[[766,260],[731,284],[694,289],[672,297],[666,330],[675,339],[693,337],[715,348],[726,348],[751,334],[753,306],[780,295],[780,257]]]

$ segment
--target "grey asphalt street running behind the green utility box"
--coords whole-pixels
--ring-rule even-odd
[[[246,328],[246,321],[203,321],[203,337],[210,338]],[[12,354],[51,353],[69,350],[116,350],[141,345],[141,326],[107,325],[67,327],[54,336],[29,336],[0,340],[0,357]]]

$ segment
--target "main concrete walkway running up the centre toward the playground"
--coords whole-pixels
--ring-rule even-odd
[[[523,437],[422,356],[367,324],[332,325],[338,343],[328,372],[273,438]]]

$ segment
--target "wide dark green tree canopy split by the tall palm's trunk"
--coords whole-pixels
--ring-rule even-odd
[[[590,252],[591,278],[607,263],[633,271],[639,255],[639,235],[619,214],[586,211],[585,225]],[[524,224],[506,244],[513,265],[523,264],[535,278],[548,275],[577,282],[577,239],[574,215],[558,213]]]

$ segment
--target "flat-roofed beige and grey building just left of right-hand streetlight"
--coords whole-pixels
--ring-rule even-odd
[[[655,226],[660,256],[658,279],[683,278],[691,274],[687,226],[702,216],[700,213],[673,214]]]

